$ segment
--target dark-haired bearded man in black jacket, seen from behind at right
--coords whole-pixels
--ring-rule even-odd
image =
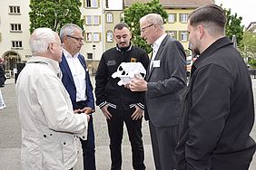
[[[251,76],[225,36],[226,15],[205,5],[188,17],[189,42],[199,55],[182,95],[176,170],[247,170],[255,152]]]

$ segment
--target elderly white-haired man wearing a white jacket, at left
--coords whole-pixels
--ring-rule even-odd
[[[76,136],[86,139],[89,116],[74,114],[59,79],[62,44],[57,33],[38,28],[30,37],[33,57],[16,83],[22,123],[22,167],[25,170],[71,169],[77,161]]]

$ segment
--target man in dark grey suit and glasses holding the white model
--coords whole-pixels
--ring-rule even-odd
[[[153,45],[146,81],[137,75],[129,88],[146,91],[145,118],[153,145],[157,170],[173,168],[181,112],[181,91],[186,86],[186,57],[181,42],[164,33],[162,17],[147,14],[140,20],[143,39]]]

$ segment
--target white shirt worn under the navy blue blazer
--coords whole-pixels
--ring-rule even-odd
[[[86,74],[83,65],[78,59],[79,52],[74,54],[74,57],[72,57],[72,55],[66,50],[63,50],[63,52],[73,76],[74,85],[76,88],[76,101],[84,101],[87,99],[85,79]]]

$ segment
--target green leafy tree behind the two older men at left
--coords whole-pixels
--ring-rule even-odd
[[[29,12],[30,33],[39,27],[59,32],[64,24],[73,23],[83,28],[80,0],[31,0]]]

